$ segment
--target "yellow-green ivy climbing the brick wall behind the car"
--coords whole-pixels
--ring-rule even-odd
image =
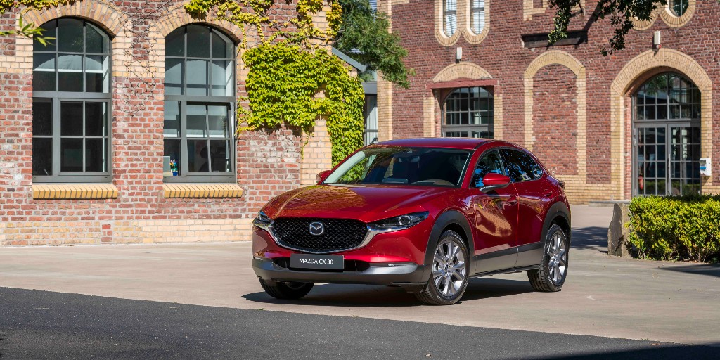
[[[212,16],[243,30],[240,48],[247,49],[243,60],[248,66],[248,107],[238,109],[238,131],[284,124],[312,135],[315,122],[325,117],[335,165],[363,145],[364,130],[362,85],[342,60],[322,46],[337,35],[341,6],[337,0],[297,0],[295,16],[281,21],[271,14],[275,4],[274,0],[191,0],[185,9],[194,17]],[[328,26],[319,27],[315,19],[326,5]],[[249,49],[248,28],[259,37]]]

